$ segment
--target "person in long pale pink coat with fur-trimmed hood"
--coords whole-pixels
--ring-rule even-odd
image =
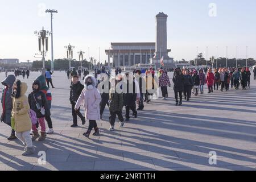
[[[84,90],[80,94],[79,100],[76,102],[75,110],[78,111],[79,107],[84,102],[85,119],[89,119],[88,131],[83,135],[89,138],[90,132],[94,128],[94,136],[100,135],[97,127],[96,120],[100,120],[100,102],[101,94],[96,88],[96,78],[93,76],[86,76],[84,79]]]

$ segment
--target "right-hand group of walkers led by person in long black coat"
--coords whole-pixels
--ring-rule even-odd
[[[255,68],[253,70],[255,76]],[[204,85],[207,85],[208,94],[213,93],[213,90],[220,90],[221,92],[228,92],[229,88],[239,89],[240,85],[242,90],[250,88],[251,72],[249,68],[218,68],[212,71],[209,68],[204,73],[203,69],[181,69],[176,68],[174,71],[174,92],[176,105],[182,104],[183,94],[184,99],[189,101],[191,94],[195,96],[204,94]],[[179,100],[178,100],[179,94]]]

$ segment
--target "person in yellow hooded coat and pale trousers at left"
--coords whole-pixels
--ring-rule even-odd
[[[13,85],[13,110],[11,115],[14,118],[15,135],[24,144],[24,152],[22,155],[34,154],[35,148],[33,147],[30,137],[30,130],[32,129],[32,123],[30,115],[30,105],[28,104],[28,98],[25,95],[27,92],[27,84],[16,80]]]

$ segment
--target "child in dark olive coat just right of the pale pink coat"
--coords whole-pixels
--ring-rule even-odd
[[[109,111],[110,111],[110,117],[109,117],[109,123],[110,123],[110,131],[114,130],[115,126],[115,118],[116,115],[119,119],[119,127],[123,127],[123,115],[122,115],[122,108],[123,108],[123,94],[118,93],[115,90],[115,86],[118,84],[118,80],[115,80],[115,78],[112,79],[112,85],[109,92]]]

